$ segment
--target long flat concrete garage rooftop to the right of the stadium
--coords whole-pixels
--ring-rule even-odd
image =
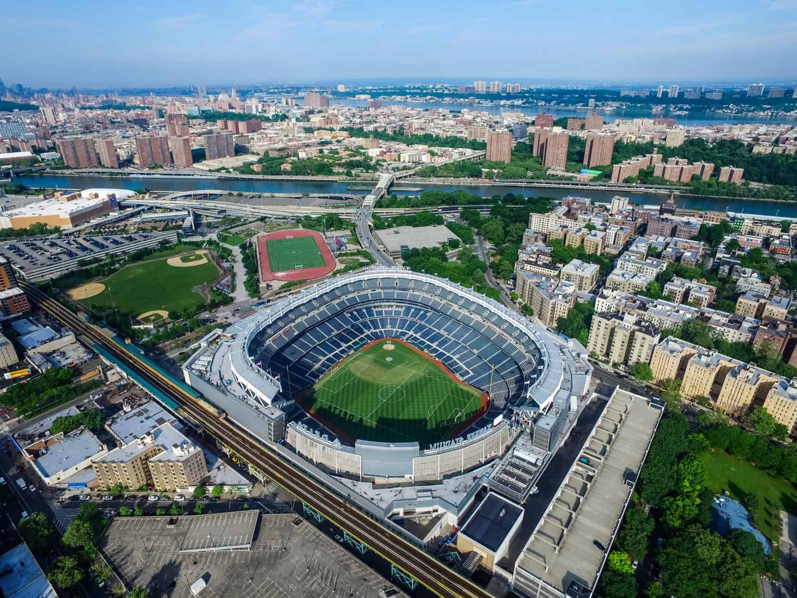
[[[632,490],[626,474],[641,469],[661,415],[645,397],[614,390],[516,563],[521,591],[540,580],[559,592],[573,580],[594,588],[606,555],[593,542],[611,545]]]

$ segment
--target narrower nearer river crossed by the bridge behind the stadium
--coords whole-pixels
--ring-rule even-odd
[[[249,191],[254,193],[354,193],[365,195],[364,191],[348,191],[347,187],[359,186],[362,183],[308,183],[300,181],[274,180],[231,180],[231,179],[184,179],[175,177],[151,176],[66,176],[66,175],[21,175],[13,179],[27,187],[48,187],[59,189],[89,189],[104,187],[112,189],[150,189],[151,191],[192,191],[202,189],[225,189],[231,192]],[[586,191],[572,189],[544,189],[538,187],[498,187],[495,185],[430,185],[424,183],[408,183],[408,187],[422,187],[424,191],[467,191],[473,195],[490,197],[517,193],[527,197],[551,197],[562,199],[568,195],[589,197],[594,202],[611,203],[615,195],[628,197],[631,203],[658,204],[666,201],[667,195],[655,193],[618,193],[615,191]],[[418,191],[402,191],[401,185],[391,189],[394,195],[419,195]],[[678,207],[705,208],[706,210],[731,210],[745,214],[762,214],[768,216],[787,216],[797,218],[797,202],[756,201],[752,199],[703,198],[677,196]]]

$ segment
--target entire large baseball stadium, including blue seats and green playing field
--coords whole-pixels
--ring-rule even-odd
[[[501,458],[532,423],[540,450],[552,450],[591,374],[583,348],[471,289],[398,268],[321,282],[226,332],[246,399],[292,412],[297,454],[360,479],[462,474]]]

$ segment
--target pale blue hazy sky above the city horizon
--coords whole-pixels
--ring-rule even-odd
[[[797,81],[797,0],[3,4],[0,78],[33,88]]]

